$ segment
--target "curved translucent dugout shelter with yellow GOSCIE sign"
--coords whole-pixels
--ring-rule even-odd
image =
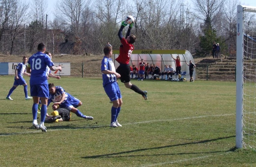
[[[119,66],[119,63],[115,60],[119,56],[119,50],[113,50],[112,60],[115,68]],[[190,80],[189,68],[186,62],[189,64],[191,60],[194,63],[194,59],[191,53],[187,50],[133,50],[130,56],[130,66],[135,65],[139,69],[139,62],[144,59],[145,63],[155,64],[163,71],[165,65],[169,67],[171,65],[176,70],[176,64],[172,56],[176,59],[177,56],[181,59],[181,74],[182,77]],[[194,63],[195,64],[195,63]],[[184,73],[186,73],[184,75]],[[175,75],[173,76],[175,78]],[[178,78],[178,76],[177,76]],[[193,79],[196,79],[196,68],[193,73]]]

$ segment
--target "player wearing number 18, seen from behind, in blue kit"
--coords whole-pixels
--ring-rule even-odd
[[[30,94],[33,97],[33,123],[32,125],[35,129],[41,129],[46,132],[46,127],[44,126],[44,120],[47,113],[47,100],[49,96],[49,88],[46,76],[46,67],[48,66],[50,70],[61,71],[61,67],[55,67],[50,57],[45,52],[45,44],[38,44],[38,52],[29,57],[27,72],[31,74],[30,76]],[[41,122],[40,125],[37,123],[37,109],[38,103],[41,100]]]

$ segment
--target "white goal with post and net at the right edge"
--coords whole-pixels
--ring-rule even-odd
[[[237,6],[236,147],[256,150],[256,7]]]

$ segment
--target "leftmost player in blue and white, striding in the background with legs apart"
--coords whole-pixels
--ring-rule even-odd
[[[10,89],[10,91],[6,97],[7,100],[13,100],[10,96],[19,85],[23,85],[23,87],[24,87],[25,99],[26,100],[32,99],[32,97],[28,96],[28,85],[26,83],[26,80],[24,80],[24,78],[23,78],[23,74],[30,77],[30,74],[25,72],[25,70],[26,70],[25,64],[27,61],[28,61],[28,57],[23,56],[22,63],[19,63],[18,66],[15,68],[15,77],[14,77],[13,87]]]

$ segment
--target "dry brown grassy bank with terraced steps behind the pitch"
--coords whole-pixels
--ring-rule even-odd
[[[28,57],[31,55],[27,55]],[[0,55],[0,62],[21,62],[23,56]],[[82,77],[82,63],[84,77],[101,77],[102,55],[54,55],[53,62],[70,62],[71,76]],[[194,58],[196,64],[196,80],[230,80],[235,81],[236,58],[222,57],[213,59],[210,56]],[[208,65],[208,76],[207,76]]]

